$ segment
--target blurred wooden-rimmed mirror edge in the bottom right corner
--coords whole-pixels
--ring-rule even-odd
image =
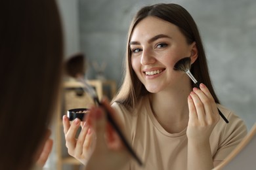
[[[256,123],[231,154],[214,170],[256,169]]]

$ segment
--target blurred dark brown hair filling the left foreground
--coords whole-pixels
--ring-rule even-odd
[[[30,169],[60,89],[60,16],[54,0],[1,1],[0,22],[0,169]]]

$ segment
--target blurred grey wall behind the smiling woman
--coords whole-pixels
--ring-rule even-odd
[[[245,120],[256,121],[256,2],[254,0],[58,0],[66,37],[66,58],[87,56],[88,78],[96,78],[93,62],[106,63],[104,76],[121,83],[129,24],[144,5],[178,3],[190,12],[205,45],[209,70],[221,103]]]

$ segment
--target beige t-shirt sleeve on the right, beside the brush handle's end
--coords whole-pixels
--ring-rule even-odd
[[[224,128],[221,130],[217,152],[213,156],[214,161],[225,160],[226,156],[228,156],[242,139],[244,139],[245,135],[247,135],[247,127],[241,118],[232,112],[229,112],[226,116],[228,116],[229,123],[226,124],[224,121],[222,122]]]

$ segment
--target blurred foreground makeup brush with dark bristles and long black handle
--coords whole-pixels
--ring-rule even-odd
[[[121,141],[123,142],[124,146],[127,148],[128,152],[131,154],[131,156],[133,156],[133,158],[135,158],[135,160],[139,163],[139,165],[142,166],[143,165],[142,161],[137,156],[137,154],[135,153],[133,148],[131,148],[131,145],[128,143],[127,139],[125,139],[125,136],[121,132],[119,126],[117,126],[117,123],[115,122],[114,118],[112,117],[112,114],[110,114],[110,111],[100,102],[100,100],[98,99],[98,95],[95,92],[95,89],[91,85],[89,85],[87,83],[87,81],[85,80],[84,72],[82,70],[83,67],[81,67],[81,65],[83,65],[83,63],[81,63],[81,62],[74,62],[75,58],[79,59],[79,57],[74,56],[73,58],[68,59],[68,61],[66,61],[66,63],[65,63],[66,73],[68,75],[76,78],[77,80],[79,80],[79,82],[83,83],[83,85],[84,85],[83,86],[83,90],[85,90],[85,92],[87,92],[93,98],[93,100],[95,101],[96,105],[102,107],[105,110],[108,122],[110,122],[112,127],[116,130],[117,135],[119,135]],[[74,73],[73,68],[76,68],[76,69],[80,68],[80,70],[77,70]]]

